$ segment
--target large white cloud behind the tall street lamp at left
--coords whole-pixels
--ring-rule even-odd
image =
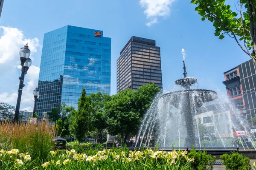
[[[33,54],[36,53],[37,49],[40,47],[39,40],[37,38],[26,39],[23,32],[17,28],[0,26],[0,29],[3,31],[3,34],[0,38],[0,71],[2,72],[6,71],[6,69],[9,69],[6,74],[8,74],[9,77],[13,77],[15,82],[17,82],[17,72],[19,72],[19,75],[21,74],[19,59],[20,48],[28,43],[29,49],[31,51],[30,58],[33,60]],[[15,72],[15,70],[17,72]],[[39,71],[40,69],[35,65],[31,65],[29,67],[29,70],[25,75],[25,87],[23,88],[21,97],[22,104],[33,105],[33,90],[38,85]],[[6,89],[5,92],[0,94],[0,101],[16,105],[18,95],[17,90]]]

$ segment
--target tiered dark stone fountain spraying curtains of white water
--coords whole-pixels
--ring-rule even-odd
[[[214,116],[216,116],[215,113],[217,111],[229,112],[230,108],[220,103],[215,91],[191,89],[197,83],[197,79],[187,77],[184,49],[182,49],[182,54],[184,78],[176,80],[175,84],[183,89],[167,94],[158,94],[155,97],[150,108],[145,113],[140,126],[137,135],[140,137],[136,141],[137,147],[142,145],[151,146],[153,141],[159,144],[160,147],[205,147],[202,141],[204,141],[204,144],[205,141],[209,141],[209,146],[211,147],[227,147],[227,140],[223,139],[223,133],[220,132],[221,128],[226,128],[229,123],[235,129],[238,127],[232,122],[228,122],[230,121],[229,119],[222,123],[215,122]],[[211,110],[209,108],[215,109]],[[200,116],[201,113],[212,113],[211,116],[208,116],[208,120],[205,119],[205,121],[211,123],[212,127],[211,129],[206,128],[209,134],[208,140],[205,140],[206,137],[200,134],[203,124],[200,123],[199,119],[203,120],[203,118],[199,117],[198,119],[198,115]],[[210,130],[213,132],[210,132]],[[215,139],[210,136],[212,133],[214,133]],[[235,141],[232,130],[230,134],[230,140]],[[253,142],[252,138],[248,135],[247,139]],[[215,143],[212,140],[215,140]]]

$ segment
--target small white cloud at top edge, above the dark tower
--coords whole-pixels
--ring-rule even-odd
[[[157,23],[158,17],[168,17],[171,13],[171,6],[175,0],[140,0],[140,5],[145,8],[144,13],[150,20],[146,26],[150,27]]]

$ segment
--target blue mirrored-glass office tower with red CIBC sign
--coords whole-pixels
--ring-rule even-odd
[[[38,116],[61,103],[77,108],[82,88],[87,95],[110,94],[110,81],[111,38],[103,31],[64,26],[44,34]]]

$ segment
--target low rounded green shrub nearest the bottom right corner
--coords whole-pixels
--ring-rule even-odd
[[[233,152],[231,155],[227,153],[221,155],[221,161],[225,165],[226,170],[252,170],[250,159],[239,153]]]

